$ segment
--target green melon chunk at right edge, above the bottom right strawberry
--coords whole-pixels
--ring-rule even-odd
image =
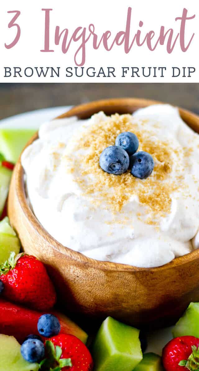
[[[199,338],[199,303],[190,303],[173,328],[173,337],[195,336]]]

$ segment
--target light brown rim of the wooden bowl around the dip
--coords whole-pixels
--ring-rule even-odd
[[[65,114],[62,114],[56,117],[55,119],[82,115],[82,114],[85,114],[85,112],[87,111],[90,112],[91,109],[95,112],[99,112],[103,110],[102,106],[104,108],[110,107],[110,106],[114,108],[114,106],[126,107],[128,105],[129,106],[135,105],[135,106],[140,106],[141,108],[141,107],[149,106],[152,104],[165,104],[165,103],[160,102],[160,101],[154,101],[154,100],[149,100],[149,99],[139,99],[139,98],[104,99],[104,100],[93,101],[93,102],[89,102],[89,103],[85,103],[85,104],[72,107],[69,111],[65,112]],[[182,108],[179,108],[179,112],[181,116],[183,116],[184,118],[191,116],[192,121],[199,128],[199,116]],[[184,119],[184,121],[188,124],[188,120],[186,121]],[[30,145],[37,138],[38,138],[38,132],[28,141],[26,147]],[[101,261],[101,260],[95,260],[95,259],[89,258],[83,255],[82,253],[76,252],[68,247],[63,246],[61,243],[55,240],[50,235],[50,233],[48,233],[44,229],[44,227],[41,225],[41,223],[37,220],[36,216],[31,211],[28,205],[28,202],[27,202],[27,197],[26,197],[25,187],[24,187],[24,170],[21,165],[21,156],[16,164],[15,181],[16,181],[16,194],[17,194],[20,206],[21,206],[21,210],[23,211],[24,216],[26,217],[28,222],[30,224],[34,224],[34,226],[36,227],[37,233],[40,235],[41,239],[47,240],[47,242],[50,243],[51,246],[55,250],[64,254],[66,257],[68,256],[70,259],[78,263],[83,263],[84,265],[87,265],[89,267],[106,270],[106,271],[111,270],[111,271],[118,271],[118,272],[142,272],[142,273],[146,271],[146,272],[155,273],[157,270],[163,271],[165,269],[172,269],[173,267],[183,265],[188,262],[189,263],[194,262],[196,259],[199,258],[199,251],[198,249],[196,249],[193,252],[190,252],[186,255],[173,259],[171,262],[166,263],[163,266],[153,267],[153,268],[142,268],[142,267],[136,267],[136,266],[126,265],[122,263],[114,263],[114,262]]]

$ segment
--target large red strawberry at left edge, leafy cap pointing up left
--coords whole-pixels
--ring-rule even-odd
[[[46,311],[56,302],[56,293],[45,266],[36,257],[24,253],[10,254],[0,265],[4,298]]]

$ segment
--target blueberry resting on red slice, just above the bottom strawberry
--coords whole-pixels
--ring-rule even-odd
[[[43,314],[37,324],[37,329],[40,335],[49,338],[60,333],[60,322],[53,314]]]

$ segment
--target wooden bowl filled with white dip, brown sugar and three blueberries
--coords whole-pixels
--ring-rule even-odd
[[[163,326],[199,301],[197,132],[191,112],[109,99],[72,108],[28,142],[9,217],[70,311]]]

